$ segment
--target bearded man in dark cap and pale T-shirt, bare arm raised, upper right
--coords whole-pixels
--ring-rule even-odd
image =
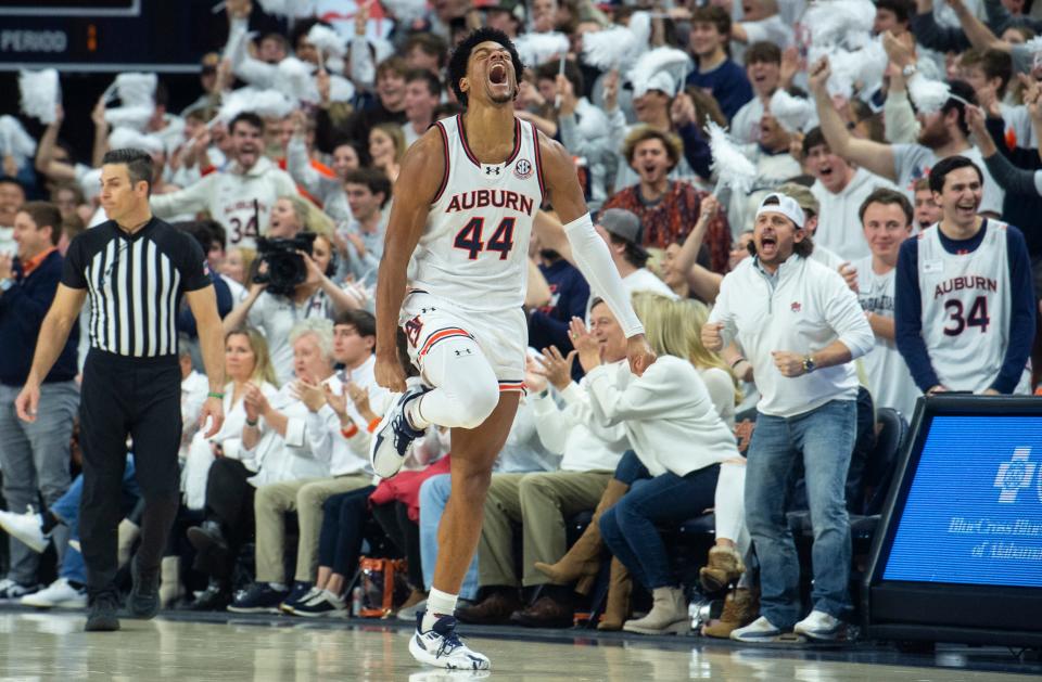
[[[911,78],[915,74],[915,64],[905,64],[903,69],[905,78]],[[948,83],[951,96],[939,112],[919,112],[916,115],[919,121],[917,144],[885,144],[860,140],[850,134],[825,88],[830,75],[828,60],[822,57],[811,67],[810,87],[817,103],[825,142],[834,154],[895,182],[908,192],[915,180],[930,175],[930,169],[939,160],[950,156],[962,155],[978,168],[984,167],[980,150],[969,143],[966,106],[976,105],[977,99],[974,89],[965,81],[952,80]],[[980,210],[993,217],[1000,216],[1004,192],[987,171],[983,171],[983,180],[984,194]]]

